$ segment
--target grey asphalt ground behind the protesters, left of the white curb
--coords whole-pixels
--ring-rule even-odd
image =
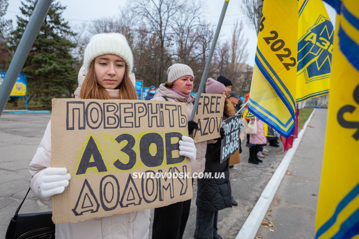
[[[320,111],[326,114],[326,110],[318,110],[317,112]],[[42,139],[49,119],[50,114],[3,113],[0,117],[0,238],[4,238],[9,220],[29,188],[31,177],[28,166]],[[303,141],[305,142],[305,140]],[[282,146],[272,148],[263,163],[260,165],[249,164],[249,149],[245,144],[244,141],[242,143],[243,152],[241,153],[242,162],[236,165],[239,170],[230,172],[232,195],[237,200],[238,206],[224,209],[219,212],[218,216],[218,233],[225,239],[234,238],[237,235],[284,156]],[[193,238],[195,230],[196,185],[195,180],[190,218],[183,236],[186,239]],[[309,196],[313,197],[310,193]],[[50,210],[51,203],[37,200],[30,192],[20,213]]]

